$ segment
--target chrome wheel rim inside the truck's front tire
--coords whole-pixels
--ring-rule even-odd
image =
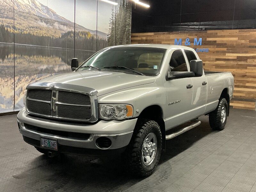
[[[156,156],[157,140],[155,133],[149,133],[143,141],[142,162],[144,165],[150,165]]]

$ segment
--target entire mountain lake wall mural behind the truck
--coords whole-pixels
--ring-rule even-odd
[[[29,83],[71,72],[72,58],[130,44],[131,3],[116,3],[0,0],[0,113],[23,107]]]

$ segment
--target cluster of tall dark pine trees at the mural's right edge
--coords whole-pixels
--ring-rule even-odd
[[[121,0],[116,14],[114,10],[112,10],[112,15],[109,20],[109,46],[131,43],[131,17],[131,3],[127,2],[127,0]]]

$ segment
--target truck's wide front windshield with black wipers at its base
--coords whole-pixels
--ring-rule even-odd
[[[135,75],[156,76],[159,73],[165,51],[166,49],[151,47],[106,48],[85,61],[77,71],[118,71]]]

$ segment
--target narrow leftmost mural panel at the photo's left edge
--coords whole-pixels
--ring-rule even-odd
[[[0,113],[14,105],[14,9],[13,0],[0,4]]]

